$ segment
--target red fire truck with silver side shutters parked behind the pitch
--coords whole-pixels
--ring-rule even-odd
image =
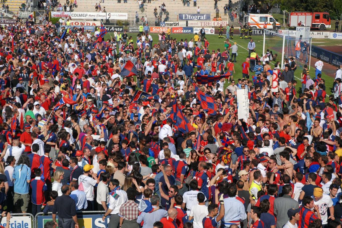
[[[292,12],[287,18],[287,25],[289,27],[310,26],[311,28],[324,30],[330,28],[330,23],[330,15],[325,12]]]

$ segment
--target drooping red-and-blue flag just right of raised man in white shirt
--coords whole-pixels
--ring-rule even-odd
[[[182,133],[195,130],[195,128],[189,123],[182,110],[177,105],[177,95],[174,98],[170,118],[173,120],[173,127]]]

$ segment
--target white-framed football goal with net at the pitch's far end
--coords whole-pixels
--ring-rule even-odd
[[[310,67],[310,33],[308,36],[300,35],[300,32],[293,30],[278,30],[278,32],[266,30],[264,36],[265,50],[273,56],[273,63],[280,62],[284,69],[285,65],[291,62],[293,57],[297,69],[303,69],[304,65]]]

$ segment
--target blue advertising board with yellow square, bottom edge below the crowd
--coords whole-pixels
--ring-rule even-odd
[[[57,219],[58,220],[58,216]],[[52,216],[37,216],[37,228],[43,228],[45,223],[52,221]],[[106,228],[109,224],[109,216],[102,221],[102,215],[78,215],[77,221],[79,227],[84,228]]]

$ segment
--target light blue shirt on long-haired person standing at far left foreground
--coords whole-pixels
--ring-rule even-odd
[[[13,171],[14,192],[20,195],[28,194],[29,183],[27,180],[31,180],[31,169],[25,164],[17,165]]]

